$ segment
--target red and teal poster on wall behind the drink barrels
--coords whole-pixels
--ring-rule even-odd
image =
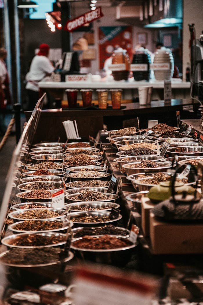
[[[109,58],[115,48],[123,48],[132,60],[132,27],[99,27],[99,66],[103,69],[104,61]]]

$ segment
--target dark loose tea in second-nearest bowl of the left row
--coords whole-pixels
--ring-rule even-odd
[[[9,245],[14,246],[46,246],[54,245],[59,242],[64,242],[65,236],[44,236],[38,234],[27,234],[22,236],[16,236],[15,238],[8,240]]]

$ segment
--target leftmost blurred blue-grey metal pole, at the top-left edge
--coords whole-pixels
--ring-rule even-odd
[[[4,44],[7,50],[7,70],[10,77],[10,91],[12,95],[12,65],[11,65],[11,43],[10,43],[10,26],[9,26],[9,6],[8,0],[4,0],[4,9],[3,9],[3,22],[4,22]]]

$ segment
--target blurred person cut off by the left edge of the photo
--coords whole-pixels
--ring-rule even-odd
[[[0,134],[6,132],[5,110],[7,104],[11,103],[11,95],[9,90],[9,74],[5,65],[7,51],[5,48],[0,48]]]

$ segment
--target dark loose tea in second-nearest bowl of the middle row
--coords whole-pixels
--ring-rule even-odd
[[[82,230],[73,232],[74,238],[82,237],[84,235],[128,235],[128,231],[124,228],[118,228],[112,224],[101,228],[83,228]]]

